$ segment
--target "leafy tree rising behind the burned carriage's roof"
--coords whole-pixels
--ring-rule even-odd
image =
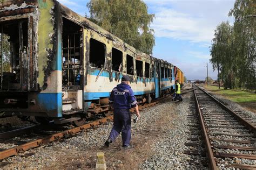
[[[140,0],[91,0],[89,19],[139,51],[152,54],[154,43],[150,24],[154,14]]]

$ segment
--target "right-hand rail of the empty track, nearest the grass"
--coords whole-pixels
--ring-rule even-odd
[[[239,116],[238,114],[236,114],[233,110],[231,110],[230,108],[227,108],[226,105],[224,105],[223,103],[221,103],[220,101],[218,101],[215,97],[213,97],[211,94],[209,94],[207,91],[205,91],[204,89],[202,89],[201,87],[198,87],[200,90],[204,91],[205,94],[207,94],[208,96],[210,96],[215,102],[217,102],[222,108],[224,108],[227,112],[230,112],[235,118],[237,118],[242,124],[244,124],[245,126],[247,126],[247,128],[251,129],[252,132],[254,132],[254,134],[256,134],[256,127],[248,122],[246,119],[242,118],[241,116]]]

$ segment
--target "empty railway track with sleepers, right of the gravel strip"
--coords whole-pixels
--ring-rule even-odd
[[[211,169],[256,169],[256,130],[251,120],[198,87],[194,87],[194,101],[198,114],[188,118],[196,137],[187,146],[197,149],[184,153],[202,157],[206,153]],[[202,144],[205,147],[200,147]]]

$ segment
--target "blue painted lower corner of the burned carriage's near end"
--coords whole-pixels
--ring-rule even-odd
[[[62,117],[62,93],[39,93],[37,101],[49,116]]]

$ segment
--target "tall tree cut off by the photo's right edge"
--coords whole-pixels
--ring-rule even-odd
[[[239,70],[237,87],[255,88],[256,78],[256,2],[255,0],[237,0],[229,16],[234,17],[233,55]],[[249,86],[246,86],[246,84]]]

